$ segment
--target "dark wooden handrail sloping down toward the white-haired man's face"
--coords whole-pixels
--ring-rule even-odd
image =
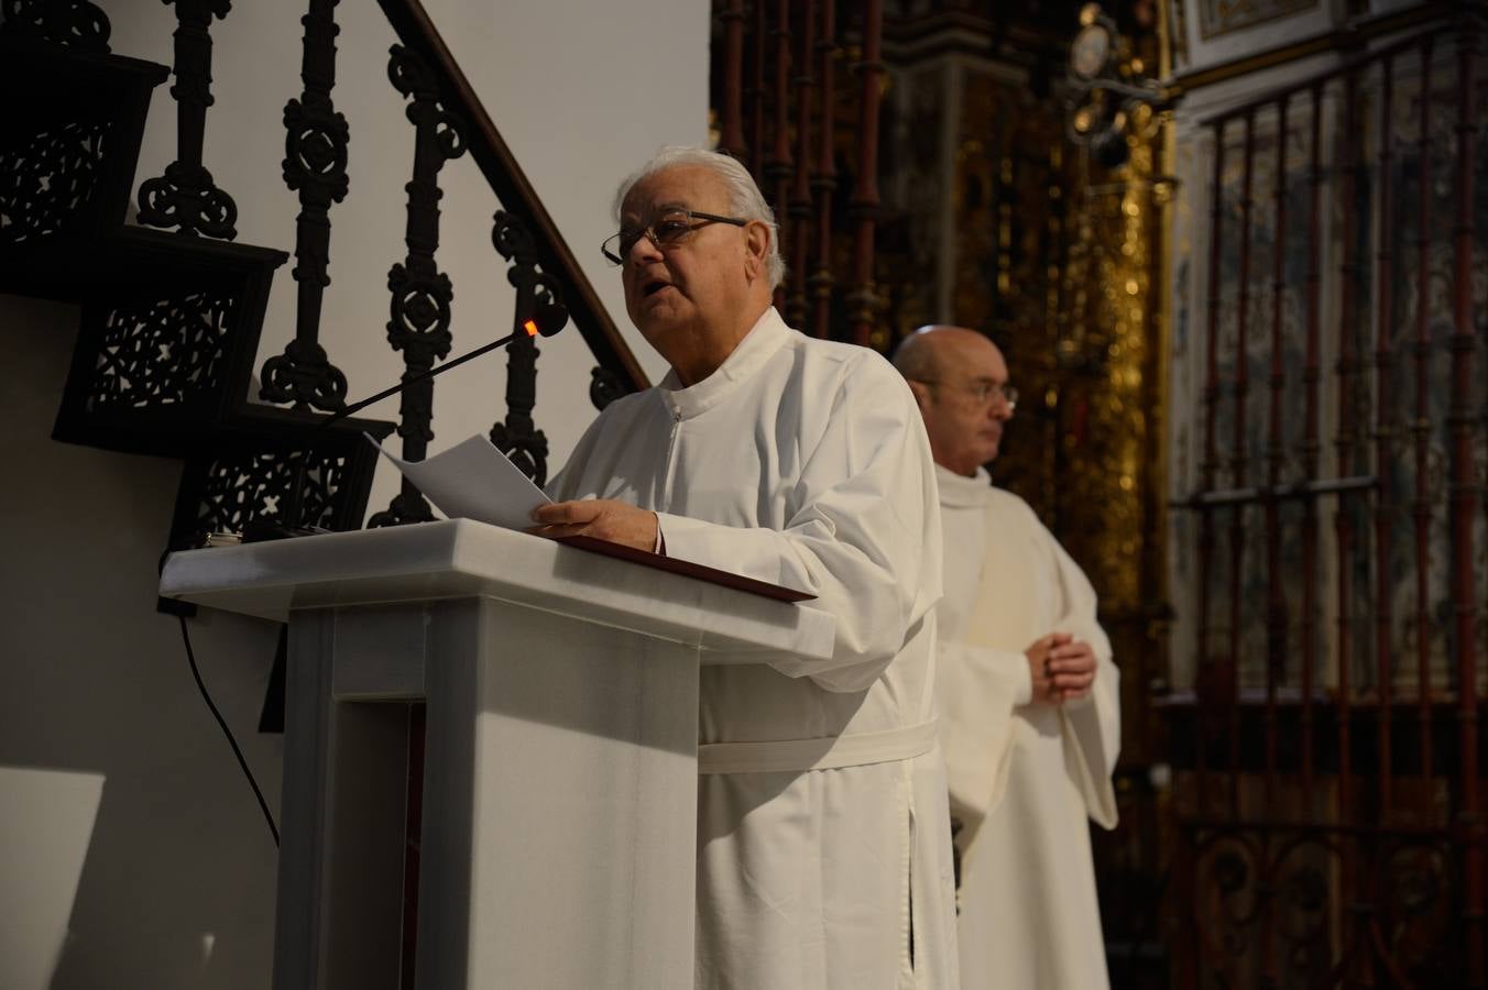
[[[548,208],[537,198],[537,192],[527,181],[521,165],[516,164],[516,158],[506,146],[500,131],[496,129],[496,123],[481,104],[481,98],[476,97],[470,80],[466,79],[449,48],[439,36],[429,12],[424,10],[424,4],[420,0],[378,0],[378,6],[382,7],[382,13],[387,15],[399,40],[417,52],[434,73],[440,100],[446,101],[446,106],[469,125],[470,132],[466,140],[470,156],[481,168],[481,174],[485,175],[491,192],[506,210],[522,216],[531,224],[533,236],[537,241],[539,265],[562,282],[565,288],[564,305],[567,305],[574,326],[583,334],[595,360],[601,367],[623,373],[635,391],[647,388],[650,382],[646,372],[641,370],[615,321],[610,320],[610,314],[600,303],[594,285],[579,268],[579,262],[574,260],[562,233],[548,216]]]

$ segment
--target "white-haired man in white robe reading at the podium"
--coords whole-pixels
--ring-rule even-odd
[[[878,354],[780,318],[774,216],[734,159],[662,149],[618,220],[606,254],[671,372],[600,415],[539,532],[796,587],[838,620],[827,661],[702,669],[695,984],[955,987],[940,519],[914,397]]]

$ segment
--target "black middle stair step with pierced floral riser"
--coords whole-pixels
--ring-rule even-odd
[[[30,265],[60,262],[39,247]],[[124,227],[86,251],[70,296],[82,330],[54,436],[128,453],[201,456],[225,447],[338,450],[393,424],[351,419],[315,436],[321,415],[250,401],[274,271],[272,248]]]

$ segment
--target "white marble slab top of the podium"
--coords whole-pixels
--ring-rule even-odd
[[[707,651],[827,659],[836,618],[469,519],[173,553],[161,595],[286,621],[290,611],[494,598]]]

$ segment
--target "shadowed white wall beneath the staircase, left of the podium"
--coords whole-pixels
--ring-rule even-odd
[[[195,691],[174,620],[155,614],[180,464],[52,441],[77,311],[6,299],[3,314],[0,458],[25,467],[0,486],[0,767],[97,774],[103,798],[89,834],[76,807],[0,789],[0,846],[61,858],[58,844],[82,828],[86,847],[80,879],[49,868],[0,887],[0,919],[18,919],[37,896],[76,886],[70,917],[55,914],[39,941],[0,956],[0,986],[265,987],[274,846]],[[202,676],[277,813],[281,740],[254,733],[275,629],[204,614],[192,632]],[[58,945],[55,981],[22,984],[51,975]]]

